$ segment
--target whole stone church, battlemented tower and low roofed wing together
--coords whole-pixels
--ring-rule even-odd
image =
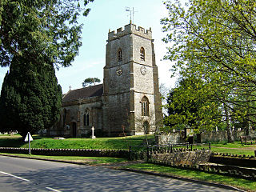
[[[60,121],[50,135],[85,137],[153,134],[162,125],[152,31],[130,23],[108,34],[103,84],[62,96]]]

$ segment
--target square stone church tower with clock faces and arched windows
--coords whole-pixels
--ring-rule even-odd
[[[161,124],[158,67],[152,32],[134,24],[108,34],[103,122],[109,134],[154,133]]]

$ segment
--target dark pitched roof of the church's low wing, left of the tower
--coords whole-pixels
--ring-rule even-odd
[[[78,99],[102,96],[102,94],[103,84],[87,86],[78,90],[70,90],[63,96],[62,102],[72,102]]]

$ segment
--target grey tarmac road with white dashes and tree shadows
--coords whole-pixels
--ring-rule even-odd
[[[0,191],[228,191],[147,174],[0,155]]]

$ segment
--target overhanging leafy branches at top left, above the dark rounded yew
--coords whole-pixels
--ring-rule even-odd
[[[94,0],[84,6],[89,2]],[[89,11],[78,0],[1,0],[0,66],[20,56],[38,65],[70,66],[82,46],[78,16]]]

